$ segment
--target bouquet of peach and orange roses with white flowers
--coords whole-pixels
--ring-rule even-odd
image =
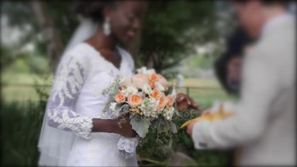
[[[154,69],[142,67],[132,77],[117,77],[103,91],[103,95],[106,93],[110,99],[105,110],[109,109],[116,115],[130,113],[130,124],[140,138],[146,137],[149,126],[153,126],[158,133],[164,129],[177,132],[176,125],[171,122],[177,114],[175,89]]]

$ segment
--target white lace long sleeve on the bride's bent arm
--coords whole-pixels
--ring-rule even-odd
[[[73,110],[88,72],[88,59],[77,53],[66,54],[58,66],[55,83],[47,107],[47,124],[52,127],[72,131],[76,135],[90,139],[92,118]]]

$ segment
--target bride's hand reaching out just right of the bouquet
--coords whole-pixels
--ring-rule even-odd
[[[189,96],[183,94],[183,93],[178,93],[176,95],[176,104],[178,110],[187,110],[190,108],[193,108],[195,110],[200,110],[200,107],[198,104],[196,104]]]

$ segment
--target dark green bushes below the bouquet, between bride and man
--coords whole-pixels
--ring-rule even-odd
[[[200,111],[189,110],[180,113],[172,122],[180,127],[187,120],[201,114]],[[150,127],[146,138],[136,148],[139,154],[139,166],[228,166],[230,165],[230,151],[196,150],[187,129],[177,129],[177,133],[157,133]],[[158,142],[154,142],[158,139]]]

